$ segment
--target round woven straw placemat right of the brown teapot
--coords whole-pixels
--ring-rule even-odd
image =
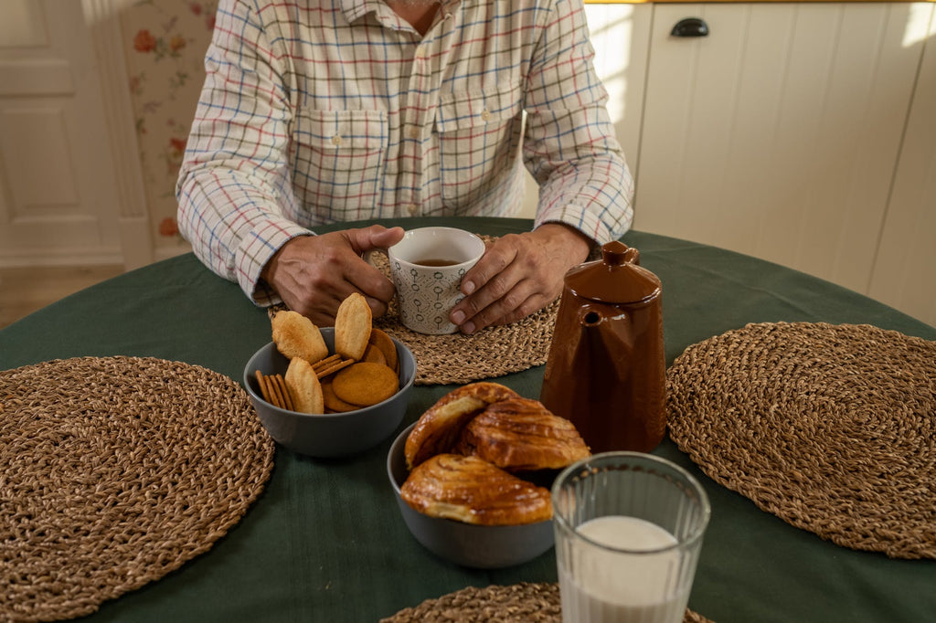
[[[800,529],[936,558],[936,342],[868,325],[748,325],[667,371],[670,437]]]

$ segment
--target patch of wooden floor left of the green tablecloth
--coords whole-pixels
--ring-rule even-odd
[[[0,268],[0,328],[122,272],[123,266]]]

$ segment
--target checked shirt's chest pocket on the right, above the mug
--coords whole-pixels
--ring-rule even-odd
[[[521,111],[519,80],[440,96],[435,128],[446,205],[474,204],[513,170]]]

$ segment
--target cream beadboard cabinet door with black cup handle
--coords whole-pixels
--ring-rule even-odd
[[[654,7],[635,227],[867,292],[923,50],[905,42],[916,6],[931,13]],[[685,17],[709,36],[670,36]]]

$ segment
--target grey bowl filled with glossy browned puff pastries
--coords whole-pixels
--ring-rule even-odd
[[[576,427],[496,383],[463,385],[405,428],[387,457],[403,522],[440,558],[475,569],[553,545],[549,486],[591,456]]]

